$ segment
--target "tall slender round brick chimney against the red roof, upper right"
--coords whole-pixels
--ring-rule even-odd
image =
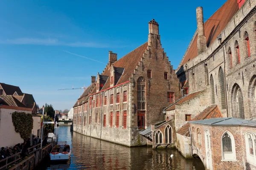
[[[197,21],[197,32],[198,32],[198,55],[206,50],[206,37],[204,35],[204,15],[203,7],[196,8],[196,21]]]

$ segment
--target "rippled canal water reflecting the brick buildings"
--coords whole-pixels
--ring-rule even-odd
[[[176,149],[125,147],[70,132],[70,126],[57,127],[57,133],[58,140],[67,141],[72,148],[70,162],[45,161],[38,170],[204,170],[200,159],[184,159]]]

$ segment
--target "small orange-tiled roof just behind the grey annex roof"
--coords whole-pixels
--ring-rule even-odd
[[[201,113],[199,113],[197,116],[195,116],[193,119],[191,119],[189,122],[197,121],[197,120],[204,120],[204,119],[212,119],[212,118],[222,118],[222,113],[218,107],[218,105],[210,105],[208,108],[204,109]],[[183,135],[183,136],[189,136],[189,122],[187,122],[185,125],[180,127],[177,130],[177,133]]]

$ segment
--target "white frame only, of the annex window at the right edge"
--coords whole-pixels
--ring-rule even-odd
[[[253,155],[250,154],[248,135],[252,135]],[[254,139],[256,139],[256,133],[254,133],[254,132],[247,132],[247,133],[245,133],[244,137],[245,137],[245,142],[246,142],[247,161],[248,161],[248,163],[253,164],[254,166],[256,166],[256,145],[254,144]]]

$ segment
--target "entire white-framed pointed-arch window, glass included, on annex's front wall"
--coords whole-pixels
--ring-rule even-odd
[[[236,160],[235,141],[230,132],[227,131],[221,136],[221,147],[222,160]]]

